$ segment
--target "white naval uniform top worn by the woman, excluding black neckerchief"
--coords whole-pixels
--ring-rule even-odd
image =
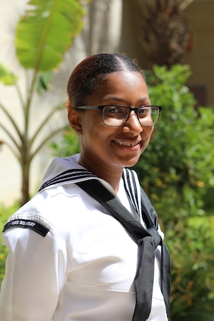
[[[82,170],[78,158],[54,159],[43,182],[70,168]],[[1,321],[132,320],[137,244],[106,208],[73,184],[84,179],[54,181],[10,217],[8,222],[18,226],[3,233],[10,253],[0,293]],[[123,179],[117,196],[137,215]],[[45,236],[30,228],[36,223],[47,228]],[[158,246],[149,321],[167,320],[159,259]]]

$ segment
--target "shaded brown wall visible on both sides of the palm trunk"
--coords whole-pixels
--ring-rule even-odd
[[[155,0],[148,2],[152,1]],[[144,3],[144,1],[123,0],[121,51],[137,58],[142,68],[147,69],[150,68],[150,63],[146,59],[140,40]],[[189,21],[193,35],[193,48],[185,52],[182,59],[184,64],[191,66],[193,72],[188,84],[202,86],[205,90],[206,105],[214,106],[214,0],[194,0],[184,10],[184,15]]]

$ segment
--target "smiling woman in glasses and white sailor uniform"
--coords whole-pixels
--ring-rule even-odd
[[[1,286],[2,320],[167,320],[160,267],[163,233],[158,230],[162,237],[153,267],[144,269],[154,280],[141,285],[144,295],[141,289],[136,294],[139,266],[147,262],[139,255],[142,239],[135,240],[123,218],[119,222],[112,216],[106,200],[95,200],[104,188],[104,196],[119,199],[133,220],[152,232],[146,225],[150,218],[142,213],[148,200],[141,204],[137,175],[126,169],[137,163],[157,123],[161,108],[150,105],[144,75],[126,55],[93,55],[73,70],[68,119],[81,153],[54,159],[39,193],[4,228],[10,253]],[[92,186],[84,191],[81,182],[86,181],[101,183],[95,198],[89,195]],[[148,231],[144,235],[150,236]]]

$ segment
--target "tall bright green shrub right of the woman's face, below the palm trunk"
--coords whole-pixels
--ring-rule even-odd
[[[152,104],[163,107],[153,139],[135,167],[164,225],[204,214],[214,186],[213,108],[195,109],[185,86],[188,66],[154,67],[148,77]],[[167,208],[167,212],[166,212]]]

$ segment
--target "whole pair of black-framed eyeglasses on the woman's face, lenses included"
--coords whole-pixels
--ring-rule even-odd
[[[159,119],[159,113],[162,110],[160,106],[141,106],[128,107],[121,105],[103,105],[103,106],[77,106],[77,109],[99,109],[101,110],[102,121],[106,126],[123,126],[130,112],[133,110],[137,115],[139,124],[145,127],[155,126]]]

